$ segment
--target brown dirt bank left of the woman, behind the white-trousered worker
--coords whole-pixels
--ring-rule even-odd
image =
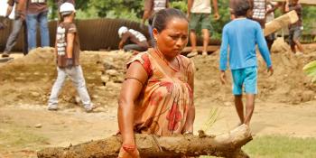
[[[116,106],[124,80],[125,61],[131,54],[123,51],[83,51],[80,64],[88,93],[97,106]],[[0,69],[0,105],[46,105],[57,77],[52,48],[39,48],[27,56],[12,60]],[[68,79],[60,92],[60,106],[80,105],[79,96]]]

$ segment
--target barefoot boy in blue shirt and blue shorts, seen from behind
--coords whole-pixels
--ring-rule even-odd
[[[240,124],[250,124],[251,116],[255,108],[255,97],[257,94],[257,59],[256,44],[265,60],[270,76],[274,73],[270,59],[270,53],[265,42],[265,36],[259,23],[246,19],[250,9],[248,0],[237,0],[232,8],[236,19],[224,26],[222,33],[222,44],[220,46],[219,69],[220,80],[226,83],[228,46],[229,67],[233,79],[233,94],[235,96],[235,107],[240,119]],[[242,88],[246,93],[246,114],[242,101]]]

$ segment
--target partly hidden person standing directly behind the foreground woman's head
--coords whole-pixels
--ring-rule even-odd
[[[145,0],[144,1],[144,14],[142,25],[148,20],[148,33],[150,35],[151,46],[154,46],[153,41],[153,15],[158,11],[169,8],[169,0]]]

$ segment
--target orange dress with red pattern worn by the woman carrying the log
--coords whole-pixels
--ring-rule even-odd
[[[193,92],[188,83],[194,78],[194,65],[188,58],[176,57],[179,70],[169,66],[157,52],[137,54],[127,63],[138,61],[148,74],[147,82],[135,105],[135,133],[154,135],[181,134]]]

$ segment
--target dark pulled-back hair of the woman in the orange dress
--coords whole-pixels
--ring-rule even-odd
[[[153,28],[157,29],[158,33],[161,33],[172,18],[179,18],[188,21],[187,17],[180,10],[168,8],[160,10],[159,12],[154,14]]]

